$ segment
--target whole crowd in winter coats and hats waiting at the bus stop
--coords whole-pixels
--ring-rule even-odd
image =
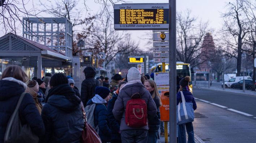
[[[18,114],[21,124],[28,124],[39,137],[39,143],[80,143],[85,125],[83,106],[88,123],[102,143],[157,143],[162,126],[159,112],[162,103],[156,83],[149,75],[142,76],[132,67],[124,80],[115,74],[109,83],[107,77],[95,79],[93,67],[86,67],[84,74],[80,94],[71,76],[47,73],[42,79],[34,77],[28,81],[19,66],[8,66],[0,80],[0,143],[4,143],[8,122],[24,92]],[[189,80],[189,77],[179,79],[179,90],[184,91],[186,102],[192,102],[195,110],[195,99],[188,90]],[[141,109],[141,118],[146,114],[145,125],[133,126],[131,121],[129,125],[127,106],[133,97],[142,99],[146,105],[146,111]],[[178,92],[177,105],[180,100]],[[139,112],[140,109],[133,109],[132,114],[136,116]],[[195,142],[192,122],[179,125],[179,142],[186,142],[185,128],[189,143]]]

